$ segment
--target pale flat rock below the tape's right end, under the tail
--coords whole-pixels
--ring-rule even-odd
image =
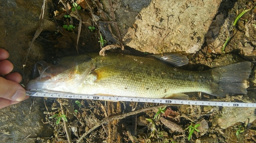
[[[226,129],[237,122],[244,123],[247,118],[249,118],[249,123],[252,123],[256,119],[254,110],[255,108],[252,107],[223,107],[221,114],[215,117],[218,125]]]

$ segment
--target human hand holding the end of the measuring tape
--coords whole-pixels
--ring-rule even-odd
[[[17,72],[10,73],[13,65],[6,60],[8,57],[8,51],[0,48],[0,108],[29,98],[24,88],[18,84],[22,81],[22,75]]]

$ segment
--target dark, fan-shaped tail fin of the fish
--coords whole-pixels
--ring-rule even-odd
[[[226,95],[246,94],[248,77],[251,72],[251,62],[234,63],[209,70],[217,85],[212,87],[211,95],[225,97]]]

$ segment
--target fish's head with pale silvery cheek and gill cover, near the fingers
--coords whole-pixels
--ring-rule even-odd
[[[88,55],[67,56],[49,63],[38,61],[33,72],[38,77],[30,80],[27,91],[70,92],[92,71],[93,63]]]

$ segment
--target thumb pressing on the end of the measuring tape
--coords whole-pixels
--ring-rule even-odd
[[[0,97],[11,101],[23,101],[26,92],[18,83],[0,77]]]

